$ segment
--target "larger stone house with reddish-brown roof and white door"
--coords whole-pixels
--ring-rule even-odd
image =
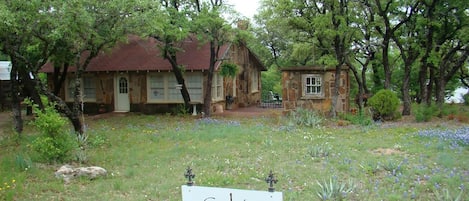
[[[191,103],[200,112],[206,89],[209,68],[209,44],[200,44],[195,37],[181,44],[177,53],[178,63],[184,68],[184,79]],[[223,111],[227,96],[232,109],[255,105],[261,99],[261,71],[266,68],[245,44],[226,44],[221,47],[219,62],[212,84],[212,111]],[[219,75],[222,62],[237,64],[239,70],[234,79]],[[53,67],[49,63],[43,70],[49,75]],[[66,102],[73,101],[74,69],[69,69],[59,96]],[[52,76],[48,76],[52,88]],[[84,112],[142,112],[146,114],[174,111],[184,103],[180,86],[169,61],[161,57],[158,42],[129,36],[112,50],[102,52],[91,60],[82,78]],[[190,111],[193,113],[193,111]]]

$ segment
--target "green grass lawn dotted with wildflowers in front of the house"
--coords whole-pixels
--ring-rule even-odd
[[[54,176],[62,163],[36,162],[34,128],[21,139],[4,129],[0,200],[181,200],[189,166],[195,185],[250,190],[267,190],[272,170],[284,200],[469,200],[468,124],[287,122],[272,115],[88,119],[81,165],[108,175],[69,184]]]

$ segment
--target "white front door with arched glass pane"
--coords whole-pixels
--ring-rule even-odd
[[[118,75],[115,79],[116,83],[116,112],[130,111],[129,101],[129,77],[125,74]]]

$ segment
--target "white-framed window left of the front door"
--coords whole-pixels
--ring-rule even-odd
[[[73,101],[75,93],[75,77],[68,77],[66,82],[66,97],[67,101]],[[83,95],[83,101],[95,102],[96,101],[96,78],[92,76],[83,76],[81,79],[80,92]]]

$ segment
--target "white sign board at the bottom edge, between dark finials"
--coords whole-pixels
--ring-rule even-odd
[[[282,201],[282,192],[181,186],[182,201]]]

